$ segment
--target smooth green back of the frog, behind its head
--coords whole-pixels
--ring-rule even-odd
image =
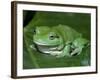
[[[62,36],[64,42],[73,41],[77,37],[81,36],[79,32],[77,32],[76,30],[66,25],[58,25],[55,28],[59,32],[59,34]]]

